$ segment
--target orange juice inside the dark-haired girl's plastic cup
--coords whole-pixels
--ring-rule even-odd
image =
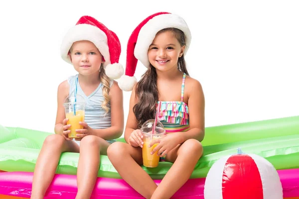
[[[152,155],[150,154],[150,152],[154,149],[154,147],[158,145],[158,143],[152,145],[151,147],[149,147],[149,143],[150,141],[144,141],[144,145],[142,148],[143,165],[145,167],[157,167],[160,158],[160,156],[157,155],[158,151],[156,151]]]

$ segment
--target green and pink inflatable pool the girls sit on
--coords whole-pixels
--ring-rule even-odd
[[[298,132],[299,116],[207,127],[202,142],[203,157],[196,164],[189,181],[175,194],[175,197],[203,198],[204,179],[211,166],[219,158],[235,153],[238,147],[245,153],[257,154],[273,164],[280,174],[282,183],[284,182],[284,198],[299,197],[299,184],[292,180],[299,173]],[[15,196],[29,198],[36,158],[43,140],[49,134],[51,133],[0,126],[0,170],[5,171],[0,173],[0,195],[6,198]],[[124,142],[124,139],[120,138],[118,141]],[[57,175],[47,192],[48,198],[68,197],[66,193],[69,193],[71,198],[74,196],[71,194],[76,192],[75,175],[78,158],[77,153],[62,154],[56,170]],[[156,183],[159,183],[171,165],[161,162],[157,168],[143,167],[143,169],[156,180]],[[121,179],[107,156],[101,156],[98,177],[93,192],[95,198],[105,196],[104,198],[113,199],[121,195],[128,199],[141,198]],[[62,180],[68,183],[62,184]],[[5,187],[8,182],[9,186]],[[116,190],[112,188],[115,186]]]

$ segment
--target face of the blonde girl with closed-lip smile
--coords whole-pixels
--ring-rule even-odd
[[[75,70],[82,75],[99,73],[103,56],[90,41],[76,41],[70,50],[70,58]]]

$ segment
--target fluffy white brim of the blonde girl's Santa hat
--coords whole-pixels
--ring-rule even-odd
[[[71,64],[68,56],[69,50],[74,42],[81,40],[88,40],[95,44],[105,59],[104,67],[110,64],[107,35],[100,28],[90,24],[75,25],[66,33],[60,49],[61,57],[64,61]]]

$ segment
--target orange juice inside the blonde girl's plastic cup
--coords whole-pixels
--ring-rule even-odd
[[[82,129],[83,126],[79,124],[80,121],[84,121],[84,110],[76,110],[76,115],[74,112],[66,113],[66,118],[68,118],[67,124],[71,124],[69,130],[71,132],[68,134],[69,138],[78,138],[76,134],[76,129]]]

